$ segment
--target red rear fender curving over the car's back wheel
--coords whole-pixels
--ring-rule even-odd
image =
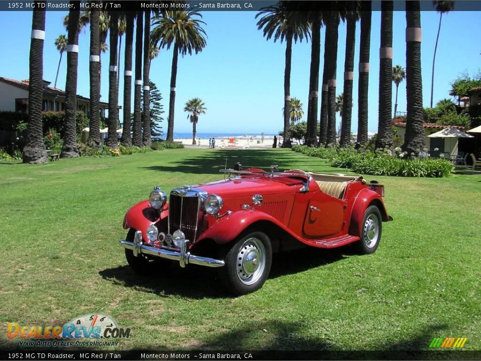
[[[363,189],[357,195],[352,207],[351,222],[349,225],[350,235],[361,236],[364,212],[366,212],[366,209],[371,205],[375,205],[379,208],[382,221],[389,221],[389,216],[387,215],[386,207],[384,207],[384,202],[382,201],[381,196],[370,189]]]

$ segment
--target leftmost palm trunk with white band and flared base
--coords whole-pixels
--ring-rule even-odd
[[[45,163],[49,159],[42,137],[42,98],[44,94],[45,10],[36,7],[32,17],[29,62],[29,135],[23,150],[24,163]]]

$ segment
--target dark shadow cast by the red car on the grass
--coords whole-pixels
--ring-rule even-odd
[[[343,252],[344,251],[344,252]],[[339,261],[346,254],[343,250],[301,250],[274,254],[269,278],[300,273],[311,268],[322,267]],[[180,268],[172,262],[167,268],[149,276],[136,274],[129,266],[118,266],[99,272],[112,283],[159,296],[180,295],[193,299],[231,297],[220,284],[217,271],[213,268],[188,265]]]

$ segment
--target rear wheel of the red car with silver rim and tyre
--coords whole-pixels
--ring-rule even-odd
[[[357,250],[361,254],[376,252],[381,240],[381,212],[376,206],[369,206],[362,219],[361,239],[357,242]]]

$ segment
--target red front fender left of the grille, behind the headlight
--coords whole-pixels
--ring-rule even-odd
[[[127,211],[124,217],[123,226],[124,229],[134,228],[137,231],[142,231],[142,237],[146,240],[147,228],[153,223],[157,223],[164,219],[167,220],[168,214],[168,204],[164,206],[164,211],[159,214],[157,210],[150,207],[149,201],[141,201]],[[167,228],[165,228],[165,232],[167,232]]]

